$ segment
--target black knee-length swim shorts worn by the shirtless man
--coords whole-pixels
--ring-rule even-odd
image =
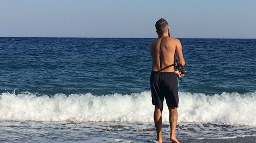
[[[151,72],[150,87],[152,104],[163,107],[163,98],[168,107],[178,107],[178,80],[175,72]]]

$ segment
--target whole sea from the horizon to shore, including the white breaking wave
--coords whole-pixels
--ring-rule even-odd
[[[154,40],[0,37],[0,142],[152,142]],[[255,142],[256,39],[180,41],[177,139]]]

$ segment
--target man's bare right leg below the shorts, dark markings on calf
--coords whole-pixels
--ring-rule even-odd
[[[169,122],[170,122],[170,140],[172,142],[179,142],[176,139],[176,125],[177,125],[177,119],[178,119],[178,111],[175,107],[168,107],[169,108]]]

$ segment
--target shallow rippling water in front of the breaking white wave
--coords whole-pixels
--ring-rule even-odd
[[[141,122],[0,122],[1,142],[152,142],[154,123]],[[163,123],[168,141],[169,124]],[[181,123],[177,138],[214,139],[255,136],[250,126],[211,123]]]

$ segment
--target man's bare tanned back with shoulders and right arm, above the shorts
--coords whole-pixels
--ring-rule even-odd
[[[178,56],[179,66],[182,67],[185,65],[181,43],[176,38],[158,38],[151,45],[150,51],[152,56],[152,71],[174,72],[175,53]]]

